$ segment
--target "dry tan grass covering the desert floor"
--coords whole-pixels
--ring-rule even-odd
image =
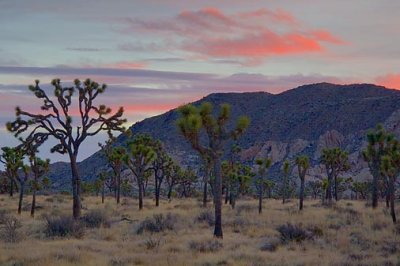
[[[48,238],[46,215],[69,215],[71,198],[38,197],[43,207],[32,219],[18,216],[18,243],[0,241],[0,265],[399,265],[400,227],[391,224],[383,204],[372,210],[362,201],[340,201],[329,209],[306,201],[282,205],[266,200],[257,213],[256,200],[239,200],[235,210],[224,206],[224,239],[213,239],[207,210],[195,199],[161,202],[151,199],[138,211],[137,201],[85,197],[83,214],[100,209],[107,226],[87,228],[82,239]],[[0,210],[16,212],[17,199],[0,195]],[[211,206],[210,206],[211,208]],[[172,230],[144,231],[139,225],[154,215],[173,215]],[[204,218],[204,216],[206,216]],[[199,218],[200,217],[200,218]],[[295,225],[311,234],[302,241],[280,241],[277,228]]]

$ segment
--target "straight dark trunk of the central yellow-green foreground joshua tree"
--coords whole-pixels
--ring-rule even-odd
[[[215,227],[214,236],[222,238],[222,180],[221,180],[221,158],[215,156],[214,175],[215,175]]]

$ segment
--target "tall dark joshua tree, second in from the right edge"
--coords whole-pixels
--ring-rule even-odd
[[[382,156],[386,153],[387,143],[390,143],[393,138],[394,136],[387,133],[381,124],[367,134],[368,147],[362,152],[362,155],[372,174],[373,208],[378,206],[378,183],[382,178]]]

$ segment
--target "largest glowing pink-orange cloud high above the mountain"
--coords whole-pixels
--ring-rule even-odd
[[[130,18],[125,22],[126,32],[156,35],[161,43],[168,40],[168,47],[189,52],[192,59],[236,59],[243,65],[257,65],[271,56],[323,53],[326,44],[345,44],[327,29],[303,26],[282,9],[226,14],[208,7],[185,10],[169,19]]]

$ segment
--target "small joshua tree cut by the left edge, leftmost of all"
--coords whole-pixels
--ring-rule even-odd
[[[0,156],[0,161],[4,164],[6,169],[6,175],[9,179],[9,193],[10,197],[14,195],[14,185],[16,185],[16,178],[18,176],[18,171],[23,166],[24,154],[21,149],[3,147],[1,148],[2,155]]]

